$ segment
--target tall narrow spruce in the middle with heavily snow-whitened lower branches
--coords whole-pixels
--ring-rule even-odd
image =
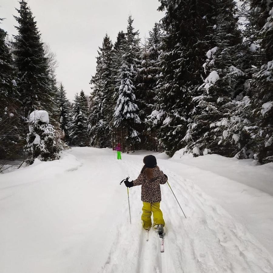
[[[121,127],[121,131],[126,133],[127,152],[133,149],[133,145],[140,143],[138,125],[141,123],[138,116],[138,106],[136,105],[136,74],[140,65],[140,39],[139,32],[134,32],[133,19],[130,15],[126,40],[121,46],[121,66],[117,71],[117,93],[118,98],[114,112],[114,126]],[[124,132],[125,131],[125,132]],[[123,145],[124,146],[124,145]]]

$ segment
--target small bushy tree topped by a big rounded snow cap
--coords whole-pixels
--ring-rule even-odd
[[[49,123],[48,113],[44,110],[35,110],[29,117],[29,133],[25,146],[28,163],[33,163],[35,158],[41,161],[59,159],[59,152],[64,144],[56,136],[54,126]]]

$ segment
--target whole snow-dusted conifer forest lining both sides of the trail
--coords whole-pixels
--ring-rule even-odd
[[[143,40],[133,11],[116,37],[102,33],[90,90],[70,102],[20,0],[18,34],[0,24],[0,159],[121,143],[273,162],[273,1],[160,0],[158,10]]]

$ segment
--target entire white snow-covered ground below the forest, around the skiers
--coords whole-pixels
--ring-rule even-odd
[[[72,148],[60,160],[0,176],[0,272],[273,272],[273,166],[217,155],[153,153],[161,186],[165,252],[141,226],[135,179],[151,152]]]

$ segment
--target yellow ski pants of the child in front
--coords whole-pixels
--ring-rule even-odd
[[[141,215],[141,220],[143,221],[143,228],[144,229],[150,229],[152,226],[152,212],[153,212],[153,226],[158,225],[158,224],[163,224],[165,226],[165,222],[163,220],[163,214],[162,211],[160,210],[160,202],[157,203],[147,203],[143,202],[143,207],[142,207],[142,215]]]

